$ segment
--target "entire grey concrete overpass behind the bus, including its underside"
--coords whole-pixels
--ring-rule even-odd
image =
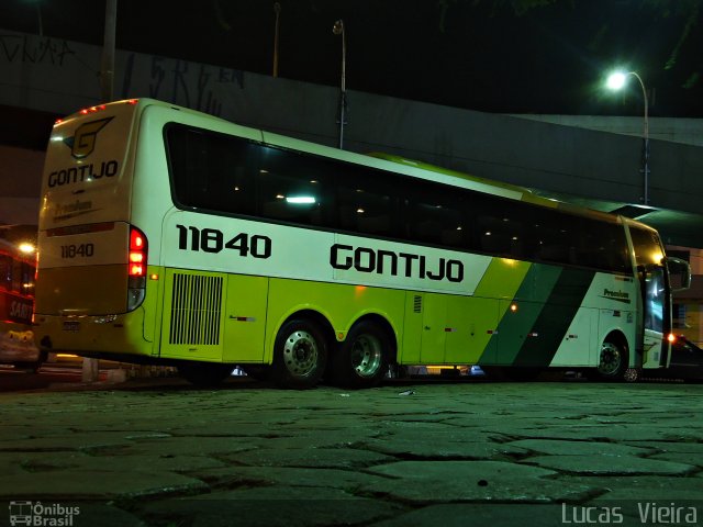
[[[2,30],[0,40],[0,223],[27,223],[38,210],[53,116],[100,102],[101,49]],[[118,52],[115,69],[118,99],[152,97],[337,144],[335,87],[133,52]],[[639,120],[496,115],[354,90],[347,100],[346,149],[383,150],[620,211],[657,227],[668,244],[703,248],[703,120],[650,119],[651,208],[643,209]]]

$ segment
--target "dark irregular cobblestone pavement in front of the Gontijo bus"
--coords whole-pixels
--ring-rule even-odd
[[[702,397],[683,383],[246,379],[3,393],[0,525],[703,525]]]

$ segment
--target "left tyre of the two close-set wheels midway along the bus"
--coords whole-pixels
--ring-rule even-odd
[[[276,337],[271,377],[281,388],[305,390],[322,379],[327,341],[314,322],[301,318],[283,324]]]

